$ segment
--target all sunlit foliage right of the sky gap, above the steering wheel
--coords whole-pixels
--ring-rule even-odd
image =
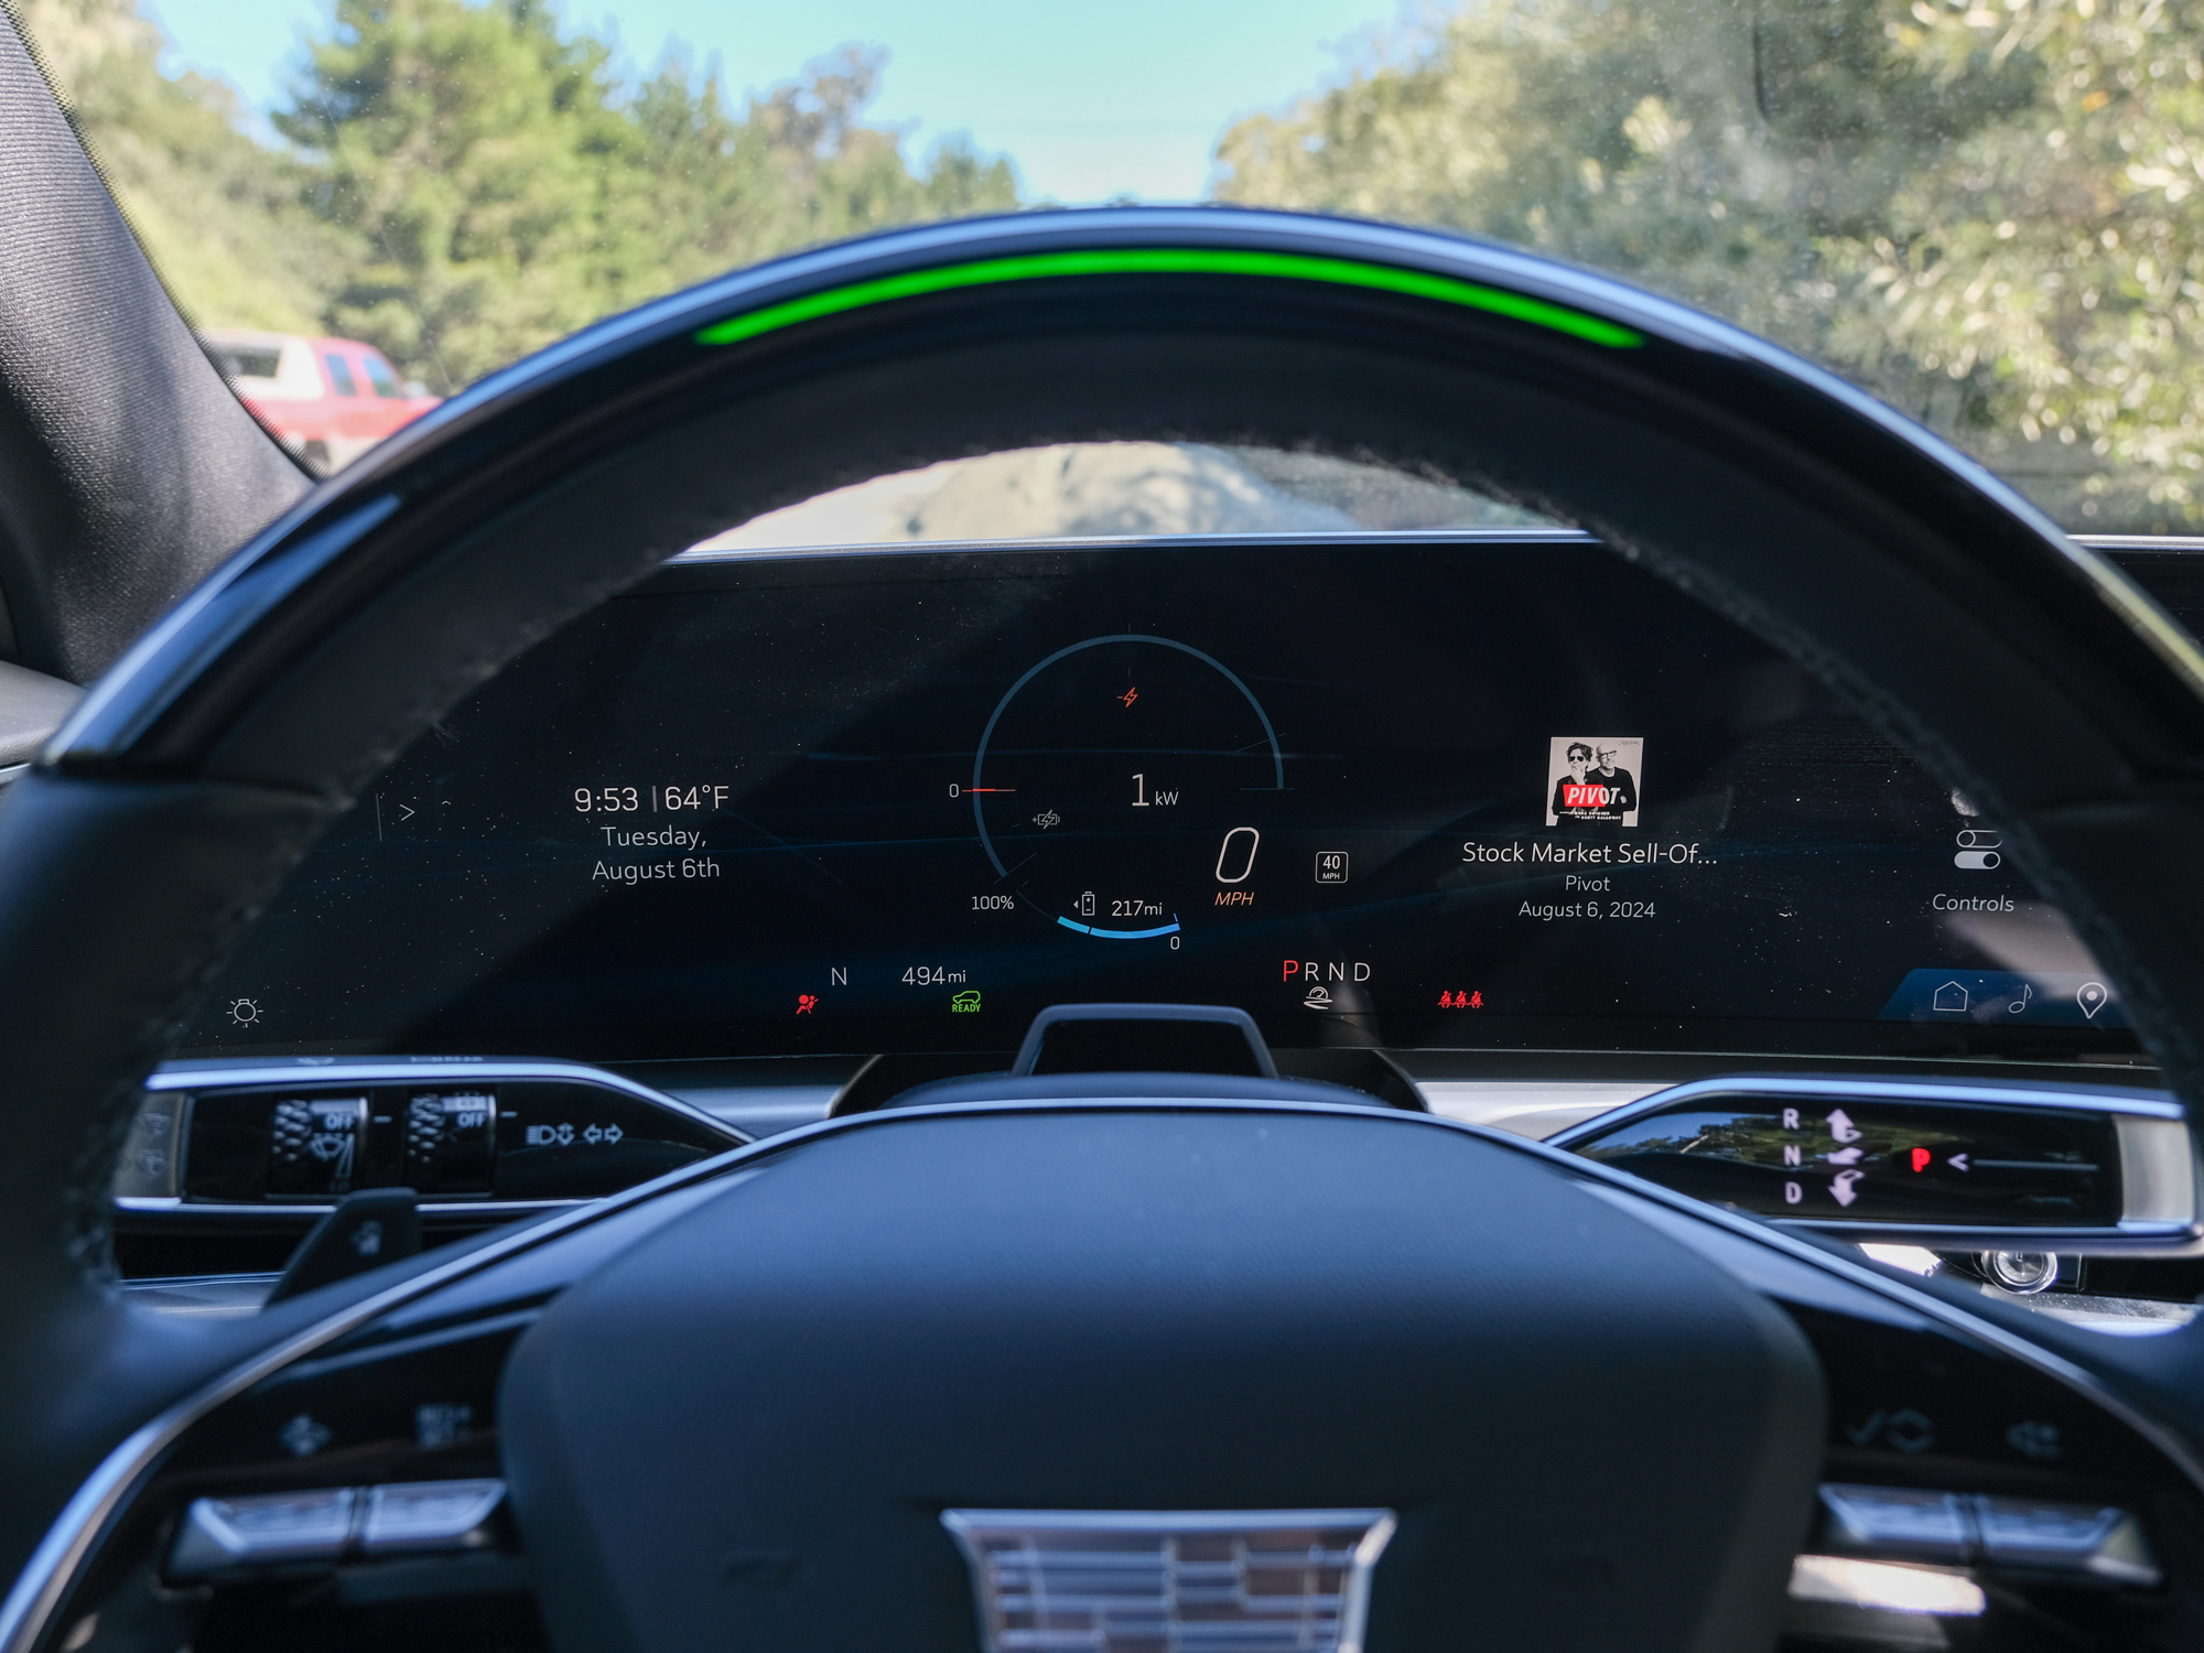
[[[2204,487],[2204,0],[1472,0],[1217,152],[1829,361],[2054,514]]]

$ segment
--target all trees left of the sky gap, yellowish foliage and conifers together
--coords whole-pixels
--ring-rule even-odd
[[[335,0],[289,150],[159,71],[137,0],[20,0],[86,148],[194,322],[339,333],[454,390],[599,315],[866,229],[1018,207],[1009,163],[921,168],[842,48],[732,108],[674,51],[639,86],[549,0]]]

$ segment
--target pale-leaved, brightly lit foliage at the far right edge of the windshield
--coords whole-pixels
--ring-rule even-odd
[[[1920,53],[1966,29],[1909,22]],[[2081,461],[2083,520],[2200,520],[2204,7],[2032,4],[2003,40],[2039,97],[1904,179],[1884,231],[1827,249],[1854,295],[1834,346],[1986,379],[2001,432]]]

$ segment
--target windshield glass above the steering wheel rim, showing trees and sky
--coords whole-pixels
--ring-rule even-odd
[[[796,247],[1217,201],[1613,271],[1836,368],[2072,529],[2204,522],[2186,4],[18,11],[185,313],[258,335],[209,348],[317,465],[595,317]],[[359,399],[381,423],[335,421]]]

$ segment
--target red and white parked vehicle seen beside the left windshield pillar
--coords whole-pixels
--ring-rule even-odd
[[[350,465],[443,401],[419,379],[399,379],[383,353],[359,339],[245,328],[198,337],[260,423],[317,472]]]

